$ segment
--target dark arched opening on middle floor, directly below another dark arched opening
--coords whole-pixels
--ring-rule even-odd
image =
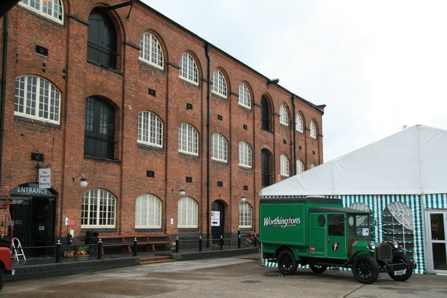
[[[85,107],[84,155],[114,158],[115,109],[106,100],[88,97]]]

